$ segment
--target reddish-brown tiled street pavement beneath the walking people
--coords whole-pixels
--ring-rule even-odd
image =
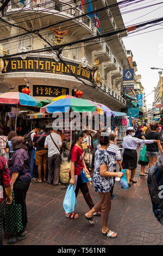
[[[66,192],[60,190],[63,186],[33,182],[27,194],[27,238],[15,245],[163,245],[163,227],[153,215],[147,176],[140,177],[139,173],[140,166],[135,175],[137,183],[127,191],[115,184],[108,227],[117,231],[116,239],[101,234],[101,217],[94,217],[93,226],[85,220],[83,214],[89,209],[82,194],[77,198],[79,218],[70,220],[62,207]],[[96,203],[99,198],[93,185],[89,190]],[[4,233],[4,245],[9,236]]]

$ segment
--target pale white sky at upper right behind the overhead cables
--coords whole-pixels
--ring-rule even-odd
[[[120,2],[120,0],[118,0],[117,2]],[[151,4],[161,3],[161,2],[163,1],[145,0],[143,2],[131,5],[130,7],[126,7],[125,11],[130,9],[145,7]],[[123,10],[124,9],[121,9],[121,13]],[[151,11],[152,13],[149,13]],[[160,5],[155,5],[154,7],[133,11],[132,13],[129,13],[129,14],[122,13],[122,18],[123,18],[124,25],[128,27],[130,25],[135,25],[136,23],[158,19],[163,16],[162,14],[163,14],[163,3]],[[140,17],[140,16],[143,16],[143,17]],[[136,19],[136,18],[139,18],[139,19]],[[158,28],[162,28],[162,29],[159,29],[158,31],[145,33],[147,31],[152,31]],[[145,33],[145,34],[136,35],[139,33]],[[158,74],[159,70],[152,70],[151,67],[163,69],[163,22],[161,25],[157,25],[157,26],[145,29],[144,31],[141,31],[141,32],[136,32],[134,36],[130,37],[130,35],[128,35],[128,38],[123,39],[123,42],[127,50],[131,50],[133,52],[133,56],[134,56],[133,60],[135,60],[137,64],[136,74],[141,74],[142,86],[145,88],[145,93],[146,93],[147,108],[149,108],[151,107],[150,105],[152,105],[152,102],[154,101],[154,92],[153,93],[151,92],[154,90],[154,87],[157,85],[159,81],[159,74]],[[147,96],[148,94],[150,95]]]

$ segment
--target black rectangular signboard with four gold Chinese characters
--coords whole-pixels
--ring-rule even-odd
[[[59,97],[69,94],[69,89],[57,86],[33,86],[33,96]]]

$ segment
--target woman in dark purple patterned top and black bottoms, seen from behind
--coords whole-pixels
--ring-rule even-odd
[[[8,161],[10,170],[12,188],[14,191],[15,203],[21,204],[22,208],[22,226],[23,229],[12,236],[8,243],[16,243],[27,237],[24,229],[27,224],[27,207],[26,207],[26,194],[30,186],[30,162],[29,155],[26,151],[26,144],[21,136],[16,136],[11,139],[12,149],[15,151],[11,159]],[[12,221],[12,220],[11,220]]]

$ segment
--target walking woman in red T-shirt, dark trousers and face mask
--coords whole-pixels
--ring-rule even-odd
[[[82,178],[80,176],[81,170],[84,169],[86,175],[89,175],[89,170],[87,170],[85,162],[84,162],[84,151],[82,148],[82,143],[85,141],[86,131],[77,131],[74,133],[73,142],[71,145],[70,155],[68,156],[68,161],[71,161],[71,180],[70,184],[74,187],[74,192],[76,193],[76,197],[78,196],[79,188],[83,193],[85,202],[89,206],[90,209],[93,208],[94,204],[92,202],[92,198],[89,193],[89,189],[87,187],[87,183],[82,182]],[[97,213],[98,214],[98,213]],[[78,218],[78,214],[71,212],[70,214],[66,214],[68,218]],[[92,222],[90,221],[92,224]]]

